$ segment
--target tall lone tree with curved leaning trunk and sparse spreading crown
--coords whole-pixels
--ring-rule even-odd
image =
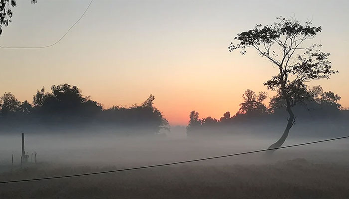
[[[331,69],[329,53],[320,51],[321,44],[309,44],[321,32],[321,26],[315,27],[310,21],[301,24],[294,18],[276,18],[278,22],[241,32],[235,37],[239,43],[229,46],[229,51],[241,49],[246,53],[248,47],[254,48],[261,57],[266,58],[278,69],[278,73],[264,83],[271,90],[277,90],[286,102],[289,114],[284,133],[269,148],[279,148],[285,142],[291,127],[295,123],[292,107],[302,103],[307,96],[306,82],[328,79],[337,73]],[[307,47],[305,47],[307,45]],[[275,150],[270,150],[273,152]]]

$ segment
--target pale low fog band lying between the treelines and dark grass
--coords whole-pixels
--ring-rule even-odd
[[[216,129],[219,131],[219,129]],[[136,133],[137,134],[137,133]],[[279,133],[281,135],[281,133]],[[67,133],[25,133],[25,151],[29,162],[31,153],[36,151],[38,162],[65,165],[134,167],[150,164],[169,163],[189,159],[220,156],[245,151],[266,149],[279,136],[274,134],[256,135],[239,132],[233,135],[212,132],[211,136],[188,137],[185,127],[174,127],[153,136],[118,136],[111,133],[82,132]],[[332,138],[334,132],[325,138]],[[284,146],[317,141],[324,137],[299,137],[290,133]],[[0,164],[9,165],[12,154],[14,165],[20,165],[21,133],[0,135]],[[315,162],[348,162],[343,158],[348,154],[347,139],[318,143],[297,148],[277,150],[271,157],[264,152],[201,161],[199,165],[216,164],[259,164],[280,160],[305,158]]]

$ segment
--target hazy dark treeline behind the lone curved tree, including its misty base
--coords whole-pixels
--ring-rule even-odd
[[[293,107],[296,125],[293,131],[299,135],[330,135],[343,134],[349,130],[349,109],[339,103],[340,96],[324,91],[321,86],[307,87],[302,94],[302,101]],[[264,103],[267,93],[256,94],[246,90],[242,95],[243,102],[234,115],[225,112],[219,119],[213,117],[200,118],[199,113],[192,111],[189,115],[187,133],[189,136],[217,133],[280,134],[285,128],[288,114],[286,102],[281,93]]]

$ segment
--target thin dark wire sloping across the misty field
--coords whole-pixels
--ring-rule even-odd
[[[211,160],[211,159],[217,159],[217,158],[225,158],[225,157],[231,157],[231,156],[246,155],[246,154],[258,153],[258,152],[270,151],[270,150],[276,150],[276,149],[291,148],[291,147],[297,147],[297,146],[303,146],[303,145],[309,145],[309,144],[316,144],[316,143],[321,143],[321,142],[328,142],[328,141],[333,141],[333,140],[339,140],[339,139],[344,139],[344,138],[349,138],[349,136],[337,137],[337,138],[320,140],[320,141],[314,141],[314,142],[306,142],[306,143],[302,143],[302,144],[294,144],[294,145],[282,146],[282,147],[279,147],[279,148],[262,149],[262,150],[256,150],[256,151],[248,151],[248,152],[235,153],[235,154],[222,155],[222,156],[213,156],[213,157],[208,157],[208,158],[186,160],[186,161],[172,162],[172,163],[166,163],[166,164],[148,165],[148,166],[143,166],[143,167],[133,167],[133,168],[126,168],[126,169],[118,169],[118,170],[110,170],[110,171],[102,171],[102,172],[92,172],[92,173],[83,173],[83,174],[74,174],[74,175],[66,175],[66,176],[53,176],[53,177],[44,177],[44,178],[32,178],[32,179],[22,179],[22,180],[13,180],[13,181],[2,181],[2,182],[0,182],[0,184],[16,183],[16,182],[26,182],[26,181],[49,180],[49,179],[57,179],[57,178],[70,178],[70,177],[78,177],[78,176],[88,176],[88,175],[106,174],[106,173],[114,173],[114,172],[121,172],[121,171],[130,171],[130,170],[137,170],[137,169],[146,169],[146,168],[152,168],[152,167],[162,167],[162,166],[183,164],[183,163],[189,163],[189,162],[198,162],[198,161]]]

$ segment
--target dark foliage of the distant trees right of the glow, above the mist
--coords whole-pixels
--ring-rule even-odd
[[[307,100],[302,102],[302,106],[294,107],[298,117],[304,121],[302,125],[319,120],[322,123],[324,119],[327,122],[330,122],[330,120],[342,121],[349,119],[349,111],[338,103],[341,97],[337,94],[331,91],[324,91],[320,85],[307,87],[305,93],[306,98],[304,99]],[[254,91],[248,89],[242,97],[244,102],[240,104],[239,111],[233,117],[231,117],[230,112],[225,112],[219,120],[211,116],[200,119],[199,113],[192,111],[189,115],[190,120],[187,126],[188,135],[210,134],[216,131],[232,133],[232,130],[238,129],[239,125],[244,126],[244,131],[246,130],[246,125],[265,125],[270,123],[270,126],[276,126],[280,120],[285,118],[283,113],[285,113],[284,109],[287,104],[280,90],[279,93],[270,99],[269,106],[263,103],[267,98],[265,92],[259,92],[257,95]],[[340,125],[338,127],[346,128]]]

